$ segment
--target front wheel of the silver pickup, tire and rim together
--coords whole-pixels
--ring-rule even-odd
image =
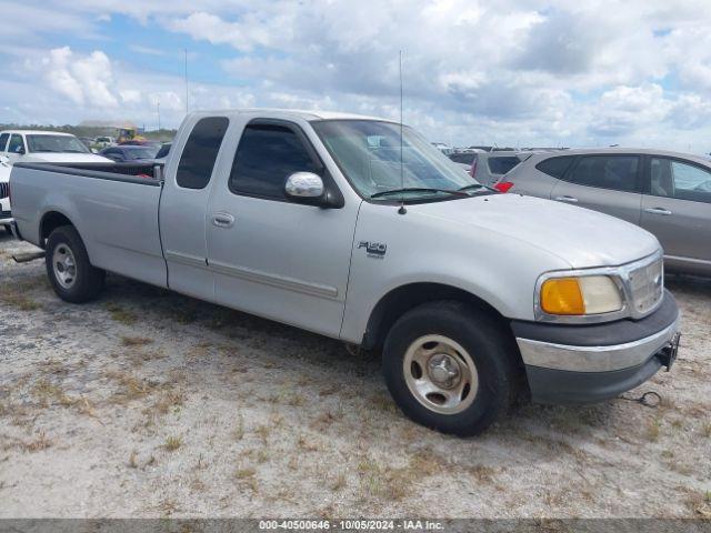
[[[487,313],[434,302],[403,314],[388,333],[383,373],[404,414],[443,433],[474,435],[514,398],[515,345]]]

